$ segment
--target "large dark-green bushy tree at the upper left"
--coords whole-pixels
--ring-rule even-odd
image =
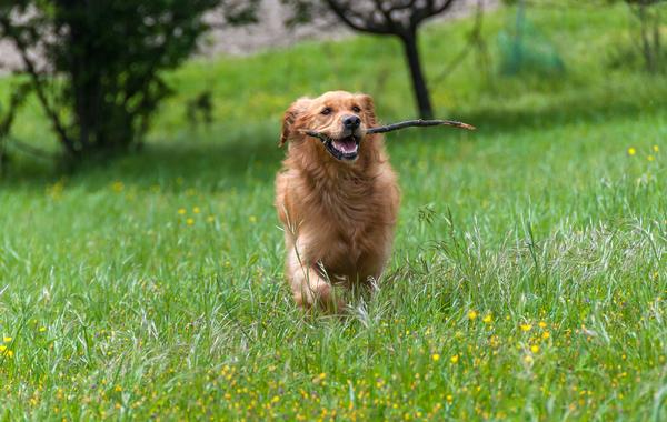
[[[228,20],[243,22],[256,3],[0,0],[0,38],[21,54],[66,158],[108,159],[141,140],[170,92],[161,72],[195,50],[203,13],[229,6]]]

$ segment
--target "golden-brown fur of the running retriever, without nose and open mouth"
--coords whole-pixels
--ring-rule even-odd
[[[349,115],[361,119],[356,160],[336,159],[303,133],[341,139]],[[384,140],[366,135],[374,125],[372,99],[344,91],[301,98],[285,113],[280,144],[288,142],[288,152],[276,178],[276,208],[285,227],[286,274],[303,308],[342,305],[331,283],[368,285],[389,258],[400,193]]]

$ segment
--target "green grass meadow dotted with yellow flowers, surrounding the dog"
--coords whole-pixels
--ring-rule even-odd
[[[368,91],[386,121],[410,117],[392,41],[187,63],[151,141],[103,168],[14,152],[0,418],[665,420],[667,79],[606,66],[630,42],[623,8],[530,17],[567,73],[489,84],[470,60],[434,99],[478,132],[389,137],[395,251],[348,318],[291,302],[275,144],[306,93]],[[496,61],[510,19],[488,18]],[[429,76],[470,24],[427,29]],[[189,129],[182,103],[207,87],[217,122]],[[36,107],[17,137],[50,144]]]

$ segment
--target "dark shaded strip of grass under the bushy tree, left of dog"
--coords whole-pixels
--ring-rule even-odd
[[[86,163],[70,173],[53,163],[22,160],[10,167],[0,187],[43,187],[66,179],[68,184],[88,190],[116,181],[175,191],[245,189],[275,178],[285,154],[276,139],[263,127],[227,134],[183,131],[169,141],[153,139],[127,155],[101,164]]]

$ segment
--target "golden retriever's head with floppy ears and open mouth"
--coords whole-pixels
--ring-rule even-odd
[[[330,159],[354,162],[364,149],[366,130],[376,124],[369,96],[345,91],[327,92],[318,98],[301,98],[285,113],[280,145],[287,141],[318,144]],[[306,134],[317,132],[319,139]]]

